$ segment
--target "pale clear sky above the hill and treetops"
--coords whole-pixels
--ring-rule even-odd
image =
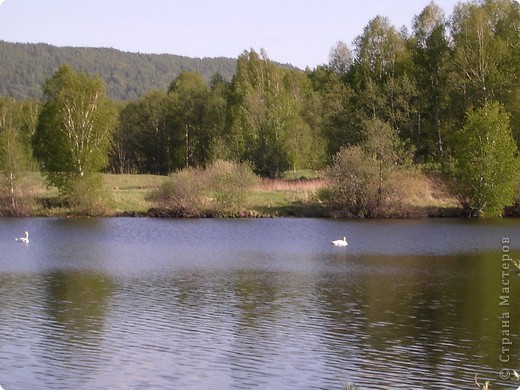
[[[410,27],[429,1],[0,0],[0,40],[190,57],[264,48],[272,60],[314,68],[375,16]],[[435,3],[451,15],[458,0]]]

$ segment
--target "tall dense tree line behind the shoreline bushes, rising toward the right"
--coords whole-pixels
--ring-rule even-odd
[[[361,142],[364,124],[376,118],[415,147],[416,161],[438,163],[450,152],[450,137],[463,127],[466,112],[490,100],[511,115],[518,140],[518,8],[509,0],[461,3],[448,19],[431,3],[415,17],[411,32],[376,17],[353,50],[339,42],[329,64],[303,73],[275,66],[265,52],[247,51],[229,83],[217,78],[205,86],[200,75],[183,74],[166,93],[130,103],[120,131],[129,135],[124,122],[129,115],[143,119],[151,114],[145,107],[165,106],[167,115],[155,117],[157,125],[143,126],[142,134],[148,131],[146,137],[153,138],[162,126],[170,137],[176,133],[177,150],[190,150],[160,172],[218,156],[252,161],[267,175],[276,173],[276,166],[330,163],[342,147]],[[172,101],[179,98],[187,106],[175,114],[179,106]],[[136,124],[135,118],[130,121]]]

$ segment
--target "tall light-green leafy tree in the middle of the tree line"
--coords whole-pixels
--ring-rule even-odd
[[[319,164],[322,146],[317,146],[323,142],[309,110],[317,112],[317,106],[304,74],[284,71],[265,51],[238,58],[230,93],[230,145],[239,161],[251,162],[256,173],[268,177]]]

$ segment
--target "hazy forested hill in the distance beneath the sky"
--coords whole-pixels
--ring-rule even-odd
[[[17,99],[39,98],[45,79],[64,63],[76,70],[100,75],[109,97],[130,100],[150,90],[166,90],[183,70],[197,72],[206,81],[211,80],[215,73],[219,73],[224,80],[231,80],[236,59],[200,59],[0,40],[0,95]]]

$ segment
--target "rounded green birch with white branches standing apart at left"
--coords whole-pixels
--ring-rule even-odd
[[[34,154],[48,183],[72,201],[75,187],[106,166],[115,124],[103,81],[61,66],[45,83],[33,136]]]

